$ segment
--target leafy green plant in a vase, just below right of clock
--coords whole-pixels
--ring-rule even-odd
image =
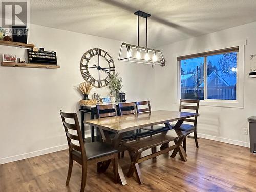
[[[119,102],[119,92],[122,89],[122,78],[118,76],[119,73],[116,73],[115,75],[110,75],[110,83],[109,83],[109,89],[110,89],[110,96],[115,97],[116,102]]]

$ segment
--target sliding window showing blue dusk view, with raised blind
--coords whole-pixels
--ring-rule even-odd
[[[178,57],[180,98],[237,100],[238,47]]]

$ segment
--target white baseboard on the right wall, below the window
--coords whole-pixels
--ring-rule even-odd
[[[244,142],[244,141],[226,139],[226,138],[223,138],[223,137],[216,137],[216,136],[206,135],[206,134],[202,134],[202,133],[197,133],[197,136],[201,137],[201,138],[204,138],[204,139],[210,139],[210,140],[214,140],[214,141],[220,141],[220,142],[223,142],[223,143],[229,143],[229,144],[233,144],[233,145],[239,145],[239,146],[244,146],[244,147],[250,148],[250,143]]]

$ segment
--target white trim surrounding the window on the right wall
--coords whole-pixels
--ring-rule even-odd
[[[200,100],[200,105],[202,106],[217,106],[217,107],[227,107],[227,108],[244,108],[244,51],[245,46],[247,44],[247,40],[230,42],[227,44],[212,46],[210,48],[198,51],[197,53],[203,53],[207,51],[214,51],[219,49],[226,49],[229,47],[239,46],[239,52],[237,54],[238,62],[237,62],[237,100],[218,100],[218,99],[205,99]],[[187,53],[184,55],[191,55],[195,53]],[[177,55],[177,57],[180,55]],[[206,59],[206,57],[205,57]],[[205,62],[206,63],[206,62]],[[177,61],[177,102],[180,102],[180,61]],[[206,79],[206,73],[204,73],[204,79]],[[206,90],[204,90],[204,98],[206,98]]]

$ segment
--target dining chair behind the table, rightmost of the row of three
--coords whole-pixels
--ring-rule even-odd
[[[138,101],[136,103],[136,111],[137,113],[150,113],[151,112],[151,105],[150,101]],[[154,125],[151,127],[145,127],[144,130],[152,131],[154,134],[161,133],[164,131],[168,131],[169,127]]]

